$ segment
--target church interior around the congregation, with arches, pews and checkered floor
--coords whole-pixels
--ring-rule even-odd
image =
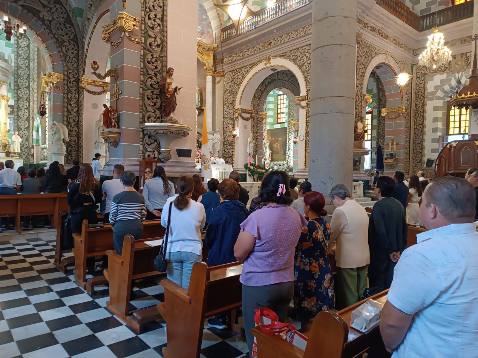
[[[120,167],[143,195],[158,167],[176,195],[184,176],[199,176],[206,192],[234,171],[246,210],[262,198],[268,173],[281,170],[299,197],[301,183],[323,194],[327,226],[337,183],[370,216],[380,202],[375,177],[399,171],[433,183],[478,166],[474,2],[0,0],[0,161],[13,161],[22,180],[52,163],[92,163],[104,198]],[[30,199],[2,198],[1,187],[0,172],[1,358],[253,353],[242,262],[215,270],[204,245],[187,289],[152,265],[160,243],[147,242],[163,240],[167,221],[159,211],[118,254],[102,220],[108,199],[98,203],[98,224],[84,221],[72,234],[66,185]],[[30,228],[35,215],[41,223]],[[408,223],[406,247],[426,230]],[[108,258],[107,269],[91,270],[95,258]],[[383,305],[386,293],[377,294]],[[253,332],[253,357],[390,357],[378,326],[367,334],[351,326],[357,307],[320,316],[306,347]],[[228,316],[225,329],[207,323],[219,314]],[[300,330],[292,313],[286,320]]]

